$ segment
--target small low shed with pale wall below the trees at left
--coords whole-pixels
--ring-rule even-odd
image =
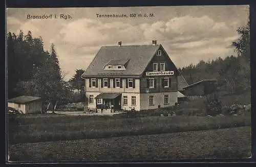
[[[39,97],[20,96],[8,100],[8,107],[22,110],[23,113],[41,113],[42,102]]]

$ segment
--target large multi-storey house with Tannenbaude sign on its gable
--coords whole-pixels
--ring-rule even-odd
[[[148,45],[102,46],[81,78],[89,108],[146,110],[173,106],[187,86],[156,40]]]

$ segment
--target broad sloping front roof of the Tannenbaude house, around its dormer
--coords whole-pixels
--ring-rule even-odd
[[[82,74],[82,77],[140,76],[160,46],[161,44],[102,46],[89,67]],[[128,59],[130,60],[126,64],[125,70],[104,69],[104,66],[113,59],[123,62]]]

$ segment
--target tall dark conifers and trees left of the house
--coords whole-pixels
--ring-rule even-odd
[[[60,69],[55,45],[44,50],[41,37],[32,37],[31,31],[24,35],[7,34],[7,82],[8,99],[26,95],[41,97],[45,102],[58,105],[84,101],[83,69],[77,69],[69,81]]]

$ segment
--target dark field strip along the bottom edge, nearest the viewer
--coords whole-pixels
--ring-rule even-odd
[[[11,161],[245,158],[251,128],[13,144]]]

